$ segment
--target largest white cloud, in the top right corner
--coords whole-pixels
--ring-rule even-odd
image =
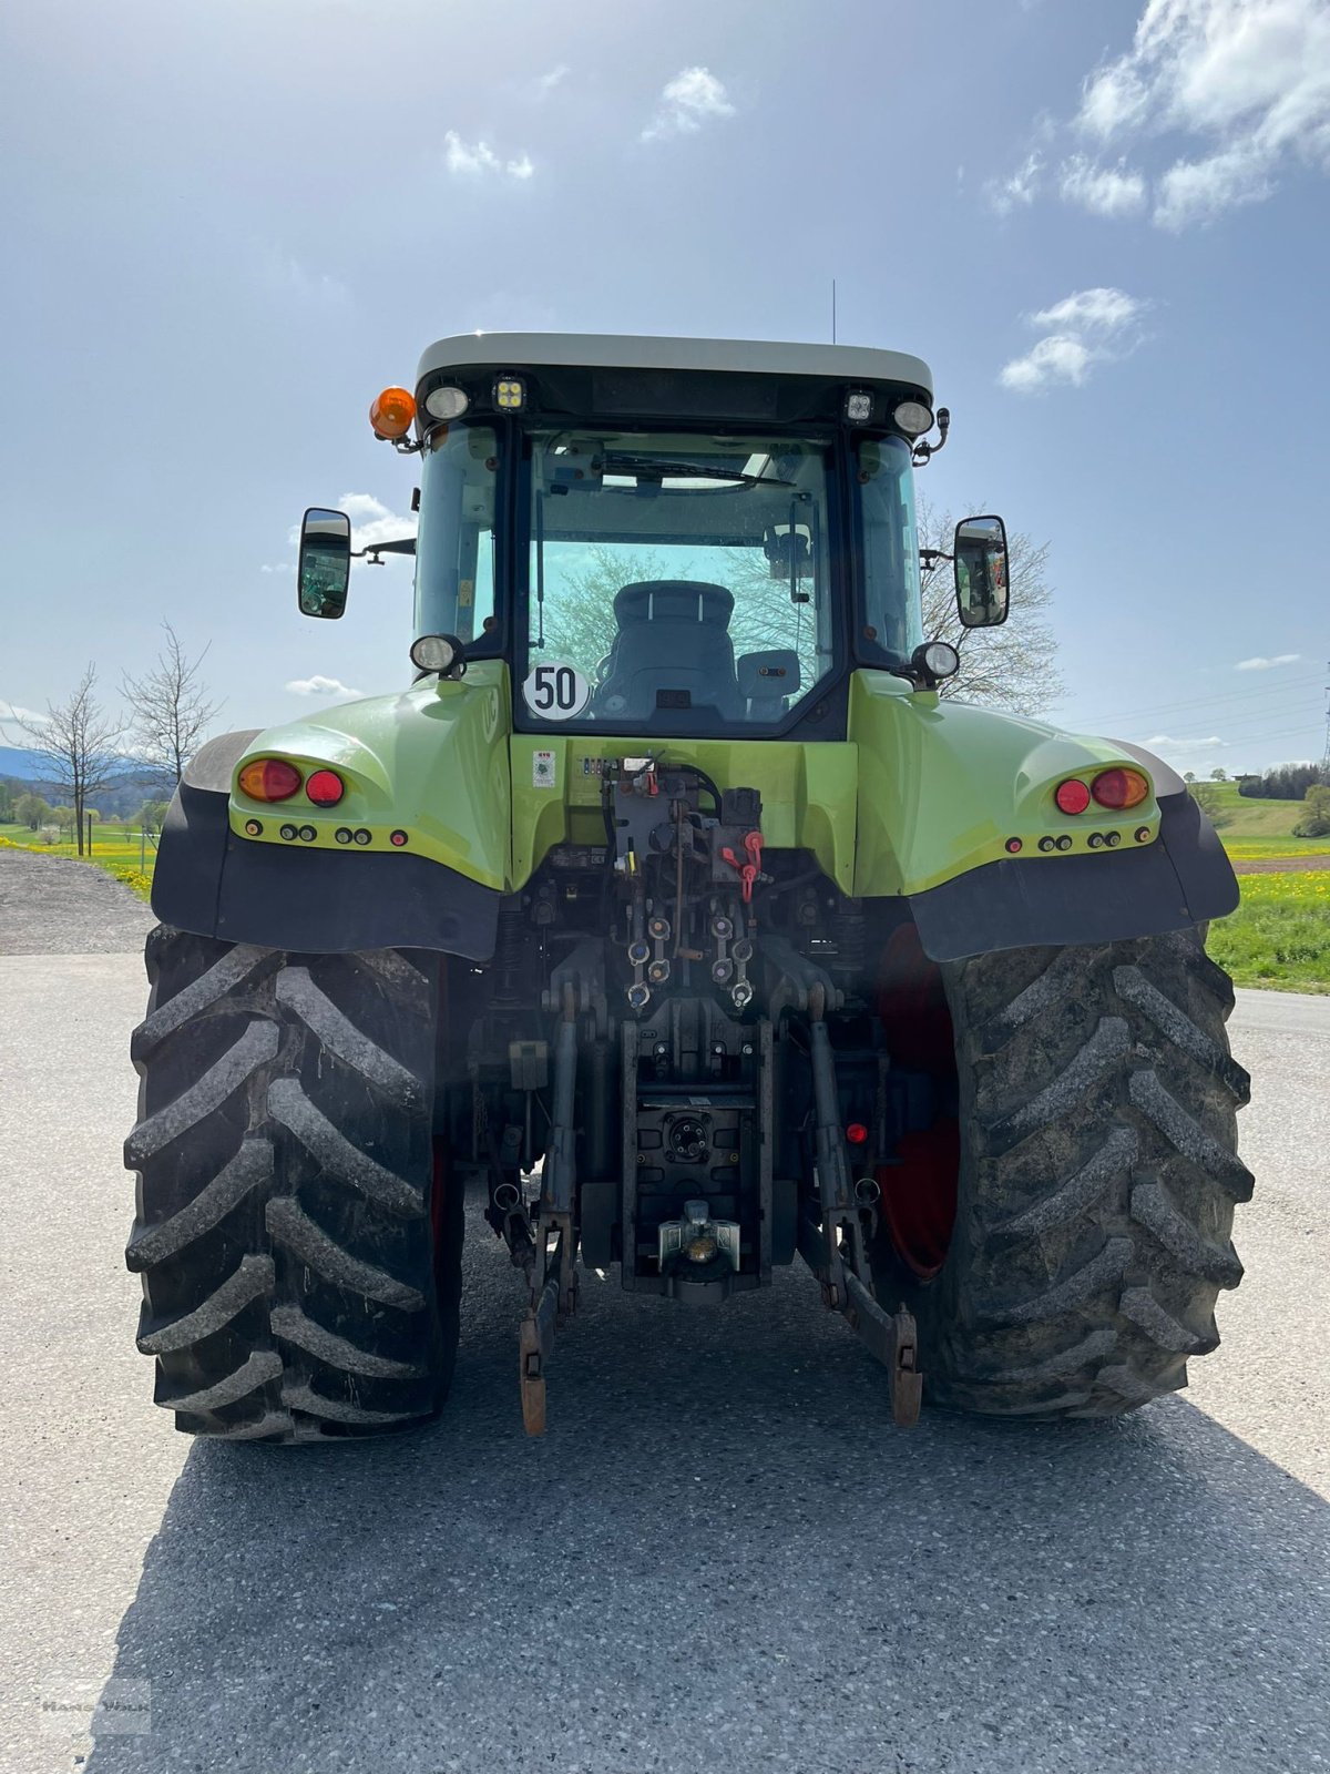
[[[1153,220],[1174,231],[1261,202],[1291,167],[1330,172],[1330,7],[1147,0],[1131,48],[1085,82],[1076,126],[1195,138],[1154,188]]]

